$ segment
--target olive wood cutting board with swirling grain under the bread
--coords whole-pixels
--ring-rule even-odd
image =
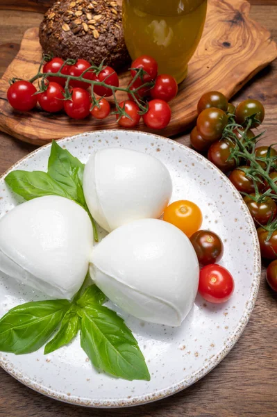
[[[208,0],[208,15],[203,37],[189,65],[187,79],[179,85],[171,101],[169,126],[158,133],[174,136],[185,131],[196,118],[196,103],[209,90],[220,90],[228,99],[262,68],[277,58],[276,43],[269,31],[249,17],[250,4],[245,0]],[[28,113],[13,111],[6,99],[8,80],[31,79],[42,57],[38,28],[26,31],[19,53],[0,80],[0,130],[19,140],[44,145],[52,139],[99,129],[117,129],[115,115],[106,120],[92,118],[69,120],[67,115],[45,113],[39,106]],[[120,74],[127,85],[128,73]],[[125,93],[118,94],[126,99]],[[143,122],[138,130],[151,131]]]

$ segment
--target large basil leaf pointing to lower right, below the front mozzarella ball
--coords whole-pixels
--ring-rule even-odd
[[[97,369],[129,381],[150,380],[137,341],[115,311],[94,305],[81,315],[81,347]]]

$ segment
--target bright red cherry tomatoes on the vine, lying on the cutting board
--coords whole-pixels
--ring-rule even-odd
[[[142,76],[137,76],[138,70]],[[51,75],[45,77],[44,74]],[[53,58],[44,63],[41,76],[44,77],[42,91],[37,91],[30,81],[20,80],[10,85],[7,97],[13,108],[31,111],[38,101],[42,110],[48,113],[64,110],[73,119],[84,119],[91,114],[102,120],[110,114],[110,102],[106,97],[114,95],[115,114],[120,126],[133,128],[142,117],[149,128],[164,129],[171,120],[167,101],[178,92],[175,79],[170,75],[158,75],[158,63],[150,56],[141,56],[133,62],[131,81],[126,89],[120,89],[126,90],[129,99],[119,104],[115,96],[119,77],[111,67],[102,65],[97,69],[87,60],[78,59],[69,64],[61,58]],[[92,91],[88,90],[92,85],[90,81],[93,81]],[[96,99],[95,95],[99,98]]]

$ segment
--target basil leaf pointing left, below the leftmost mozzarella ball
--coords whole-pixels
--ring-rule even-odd
[[[67,300],[27,302],[0,320],[0,350],[24,354],[47,342],[69,309]]]

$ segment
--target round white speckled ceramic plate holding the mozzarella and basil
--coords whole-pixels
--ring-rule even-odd
[[[151,325],[128,316],[115,306],[133,330],[151,373],[150,382],[128,382],[98,373],[81,350],[79,338],[44,357],[43,350],[15,356],[0,354],[1,366],[27,386],[57,400],[88,407],[126,407],[158,400],[185,389],[214,368],[242,334],[260,283],[258,239],[242,198],[228,179],[205,158],[172,140],[131,131],[99,131],[60,141],[85,163],[103,147],[126,147],[156,156],[171,174],[172,201],[190,199],[203,211],[202,229],[224,241],[224,265],[235,279],[235,293],[221,306],[196,298],[179,328]],[[28,155],[12,170],[46,170],[50,146]],[[0,213],[19,203],[0,180]],[[42,293],[0,277],[0,316]]]

